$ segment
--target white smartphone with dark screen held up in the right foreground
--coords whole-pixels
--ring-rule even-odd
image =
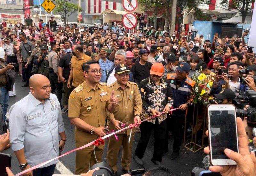
[[[207,106],[207,115],[210,163],[219,166],[236,165],[224,153],[226,148],[239,153],[235,105],[211,104]]]

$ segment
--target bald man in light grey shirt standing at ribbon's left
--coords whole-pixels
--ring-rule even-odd
[[[21,171],[59,156],[66,141],[60,103],[48,78],[34,74],[29,87],[29,94],[10,108],[9,118],[10,142]],[[35,169],[33,175],[52,175],[57,162]]]

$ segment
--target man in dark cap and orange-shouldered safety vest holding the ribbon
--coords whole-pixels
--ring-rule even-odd
[[[173,152],[171,155],[172,160],[176,160],[179,157],[182,141],[182,125],[185,122],[188,106],[192,105],[194,101],[192,88],[195,82],[188,78],[189,70],[190,66],[188,63],[182,62],[176,68],[176,73],[167,74],[167,79],[170,80],[173,91],[173,108],[179,108],[179,110],[173,111],[171,115],[174,138],[172,146]]]

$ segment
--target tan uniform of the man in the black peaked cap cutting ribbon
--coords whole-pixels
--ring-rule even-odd
[[[116,110],[113,113],[108,112],[108,120],[111,122],[112,119],[120,120],[123,123],[126,123],[126,126],[134,123],[134,116],[139,115],[142,111],[142,100],[138,85],[134,82],[127,83],[127,87],[122,89],[117,82],[110,84],[109,86],[110,92],[115,91],[115,96],[118,97],[118,105],[116,106]],[[112,123],[108,125],[109,131],[117,129]],[[132,128],[132,135],[130,143],[129,136],[131,129],[128,128],[124,132],[120,132],[117,134],[118,141],[114,136],[111,136],[108,140],[108,165],[112,167],[114,172],[117,171],[117,161],[118,161],[118,152],[123,145],[123,156],[122,156],[122,169],[130,170],[131,166],[131,156],[132,156],[132,141],[134,138],[134,133],[136,128]]]

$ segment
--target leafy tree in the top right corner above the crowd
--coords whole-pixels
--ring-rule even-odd
[[[220,5],[229,9],[236,9],[241,14],[242,23],[244,23],[247,14],[253,11],[252,3],[254,3],[254,0],[232,0],[232,2],[221,0]]]

